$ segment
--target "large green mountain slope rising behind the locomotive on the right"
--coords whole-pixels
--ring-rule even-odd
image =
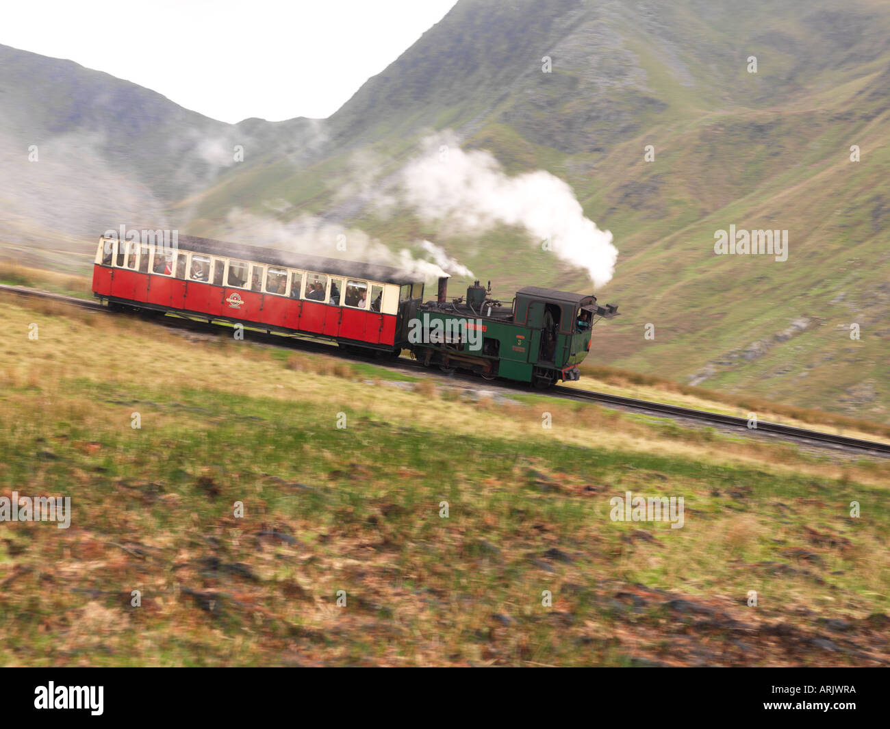
[[[285,218],[345,211],[384,241],[435,239],[501,291],[588,288],[524,231],[467,239],[409,209],[339,199],[362,154],[379,167],[366,185],[384,187],[420,137],[454,129],[511,174],[570,182],[613,232],[619,265],[602,294],[624,315],[599,333],[599,360],[881,419],[888,89],[886,4],[465,0],[328,119],[326,147],[303,166],[232,170],[196,223],[213,229],[235,198],[257,215],[280,199]],[[788,231],[788,260],[715,255],[730,225]]]

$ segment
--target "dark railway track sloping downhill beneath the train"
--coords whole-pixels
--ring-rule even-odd
[[[40,291],[36,288],[24,288],[0,284],[0,292],[7,292],[16,296],[30,298],[50,299],[53,301],[61,302],[62,304],[69,304],[95,312],[109,311],[108,307],[103,306],[99,302],[90,301],[88,299],[79,299],[76,296],[53,294],[47,291]],[[218,333],[221,329],[219,325],[199,318],[187,319],[182,317],[166,316],[158,319],[157,321],[158,324],[162,324],[164,326],[169,326],[172,328],[189,328],[193,331]],[[293,348],[293,344],[298,343],[300,344],[301,349],[307,351],[320,352],[324,354],[335,352],[335,345],[324,344],[312,338],[287,335],[282,336],[278,334],[271,334],[269,332],[263,332],[262,330],[249,328],[246,328],[246,331],[250,333],[250,337],[253,341],[263,344],[289,346]],[[344,357],[344,351],[337,349],[336,356]],[[360,355],[346,354],[345,356],[347,359],[370,360],[370,358],[361,357]],[[402,358],[401,360],[391,361],[372,361],[374,361],[377,366],[383,367],[384,369],[397,369],[401,371],[412,372],[415,374],[417,373],[418,369],[420,369],[421,371],[425,371],[423,367],[414,360],[407,360],[405,358]],[[449,376],[449,378],[454,377],[455,376]],[[466,377],[465,379],[467,382],[470,382],[472,379],[473,383],[475,383],[477,380],[477,378],[475,377]],[[491,385],[503,386],[507,390],[520,389],[516,385],[495,385],[495,383],[493,382],[485,381],[486,387]],[[637,400],[635,398],[622,397],[620,395],[597,393],[592,390],[581,390],[577,387],[555,386],[550,391],[542,392],[541,394],[575,401],[594,401],[604,405],[610,405],[612,407],[633,410],[635,412],[652,413],[659,416],[671,417],[674,419],[685,419],[710,425],[720,425],[729,427],[731,429],[738,429],[741,433],[746,433],[748,435],[768,433],[774,436],[779,436],[782,439],[789,441],[817,443],[821,446],[829,446],[844,450],[866,451],[872,454],[890,457],[890,443],[866,441],[861,438],[851,438],[836,433],[824,433],[821,431],[807,430],[805,428],[798,428],[794,425],[781,425],[780,423],[771,423],[764,420],[758,420],[755,428],[749,428],[748,420],[744,417],[724,415],[722,413],[710,412],[708,410],[683,408],[677,405],[667,405],[663,402]]]

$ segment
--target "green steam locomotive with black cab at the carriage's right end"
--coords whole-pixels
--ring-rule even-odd
[[[599,305],[596,296],[534,286],[517,291],[505,306],[490,298],[491,282],[484,288],[479,281],[466,297],[449,301],[447,281],[439,280],[437,300],[418,305],[408,323],[413,356],[446,372],[468,369],[541,388],[577,380],[595,318],[618,315],[617,306]]]

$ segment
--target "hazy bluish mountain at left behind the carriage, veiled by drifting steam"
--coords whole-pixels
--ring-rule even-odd
[[[182,223],[169,208],[308,119],[223,124],[72,61],[0,45],[0,240],[76,252],[97,230]],[[289,140],[288,140],[289,137]]]

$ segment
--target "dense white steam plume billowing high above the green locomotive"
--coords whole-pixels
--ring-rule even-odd
[[[585,217],[570,186],[543,170],[509,177],[489,152],[460,149],[454,134],[425,140],[425,153],[403,170],[406,201],[429,220],[481,233],[497,223],[518,225],[537,244],[590,273],[595,287],[608,283],[618,248],[609,231]]]

